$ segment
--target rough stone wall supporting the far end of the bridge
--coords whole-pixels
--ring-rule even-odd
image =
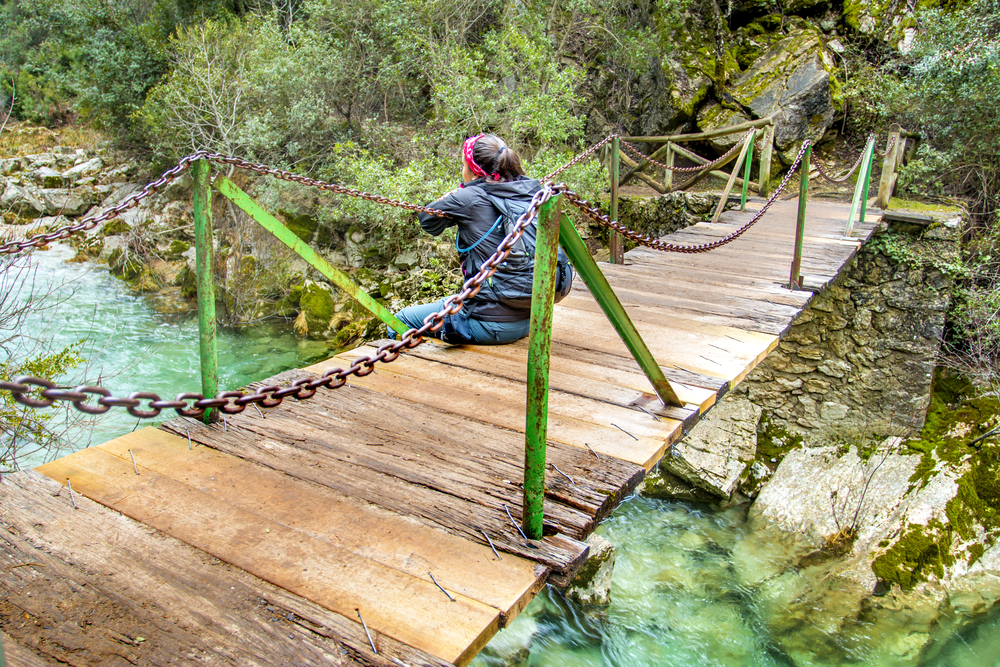
[[[919,428],[957,257],[957,217],[888,228],[795,320],[737,393],[791,433]]]

